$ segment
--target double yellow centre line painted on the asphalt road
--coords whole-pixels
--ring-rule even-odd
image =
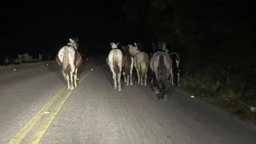
[[[90,73],[91,71],[82,76],[78,83],[80,83],[82,79],[86,78],[86,76],[88,76]],[[72,92],[73,90],[66,90],[66,86],[62,87],[61,90],[58,90],[58,93],[55,94],[53,98],[50,98],[50,101],[47,102],[45,106],[42,106],[41,110],[39,110],[38,113],[35,114],[34,117],[32,117],[30,121],[27,122],[26,125],[23,126],[13,138],[10,139],[9,144],[22,142],[22,139],[26,137],[26,134],[28,134],[30,130],[34,128],[40,119],[43,119],[42,123],[38,127],[38,130],[34,133],[29,141],[29,143],[38,143],[43,134],[46,132],[47,128],[50,126],[50,123],[54,119],[55,115],[58,114],[58,111],[61,109],[63,103],[66,102],[66,99],[69,98]],[[46,115],[46,118],[42,118],[45,112],[48,112],[49,114]]]

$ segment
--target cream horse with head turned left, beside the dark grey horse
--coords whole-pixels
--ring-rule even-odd
[[[129,52],[134,58],[134,67],[137,71],[138,83],[141,83],[141,86],[146,86],[147,70],[150,63],[149,54],[146,52],[138,50],[138,46],[134,43],[135,46],[129,46]]]

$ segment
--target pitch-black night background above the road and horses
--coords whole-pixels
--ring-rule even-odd
[[[253,1],[231,0],[109,0],[20,1],[2,4],[4,58],[29,53],[51,54],[79,38],[83,56],[106,54],[110,42],[166,41],[177,51],[187,70],[191,67],[248,63],[255,67]],[[192,70],[193,71],[193,70]]]

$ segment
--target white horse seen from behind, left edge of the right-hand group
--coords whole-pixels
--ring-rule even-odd
[[[110,66],[114,80],[114,89],[122,90],[121,72],[122,72],[122,51],[118,49],[118,43],[110,42],[111,49],[106,62]]]

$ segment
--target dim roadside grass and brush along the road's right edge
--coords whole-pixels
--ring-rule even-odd
[[[256,107],[255,86],[242,86],[236,82],[226,84],[203,70],[183,76],[181,86],[195,98],[201,98],[234,117],[256,124],[256,111],[250,110],[251,106]]]

